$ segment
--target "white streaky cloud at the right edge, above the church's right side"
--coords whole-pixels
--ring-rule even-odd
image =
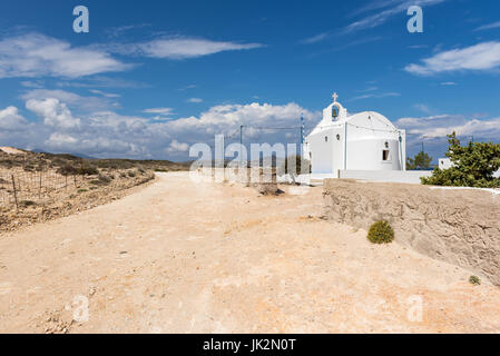
[[[404,69],[410,73],[422,76],[451,71],[498,69],[500,67],[500,42],[482,42],[462,49],[442,51],[423,59],[422,62],[422,65],[409,65]]]

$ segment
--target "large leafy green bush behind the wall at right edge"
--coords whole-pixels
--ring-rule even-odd
[[[500,144],[469,142],[461,146],[455,134],[448,136],[448,152],[453,166],[435,168],[431,177],[421,178],[424,185],[498,188],[500,178],[493,174],[500,168]]]

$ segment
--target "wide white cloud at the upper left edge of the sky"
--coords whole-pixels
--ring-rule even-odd
[[[122,71],[130,67],[111,58],[104,50],[75,48],[69,42],[40,33],[4,38],[0,41],[0,78],[80,78]]]

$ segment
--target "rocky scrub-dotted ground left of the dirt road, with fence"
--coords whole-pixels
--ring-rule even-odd
[[[171,161],[85,159],[0,147],[0,234],[119,199],[153,180],[154,171],[187,167]]]

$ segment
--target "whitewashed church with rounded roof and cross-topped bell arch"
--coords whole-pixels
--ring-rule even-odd
[[[323,119],[304,139],[303,157],[311,161],[312,175],[341,178],[342,171],[385,171],[384,176],[404,171],[405,130],[379,112],[350,115],[337,98],[334,93]]]

